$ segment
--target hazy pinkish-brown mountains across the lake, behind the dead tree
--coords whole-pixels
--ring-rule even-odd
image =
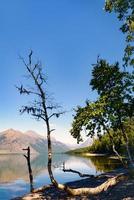
[[[30,146],[32,153],[47,152],[47,140],[34,131],[22,133],[14,129],[8,129],[0,133],[0,152],[24,153],[23,148]],[[69,147],[62,142],[52,139],[54,153],[65,152]]]

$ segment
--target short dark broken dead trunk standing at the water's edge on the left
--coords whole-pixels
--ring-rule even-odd
[[[31,161],[30,161],[30,147],[23,149],[24,151],[27,151],[27,154],[24,154],[24,157],[27,160],[27,166],[28,166],[28,173],[29,173],[29,181],[30,181],[30,191],[34,191],[34,186],[33,186],[33,172],[31,168]]]

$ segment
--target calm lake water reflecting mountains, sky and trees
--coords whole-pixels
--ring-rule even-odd
[[[120,167],[118,160],[103,157],[79,157],[66,154],[53,155],[53,172],[55,178],[61,182],[80,179],[77,174],[63,172],[63,162],[66,169],[78,170],[93,175],[101,174]],[[34,175],[34,187],[49,184],[46,155],[32,155],[31,166]],[[26,159],[23,155],[0,155],[0,200],[24,195],[29,192],[29,179]]]

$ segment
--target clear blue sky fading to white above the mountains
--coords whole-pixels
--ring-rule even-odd
[[[124,38],[114,14],[105,13],[104,0],[1,0],[0,1],[0,131],[14,128],[45,133],[44,125],[19,108],[27,102],[15,88],[25,83],[19,55],[30,49],[46,67],[48,89],[68,112],[51,123],[56,138],[72,140],[72,109],[93,100],[91,64],[97,55],[121,61]],[[53,133],[54,134],[54,133]]]

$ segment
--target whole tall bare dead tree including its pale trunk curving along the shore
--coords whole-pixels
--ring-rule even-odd
[[[120,180],[123,179],[123,175],[119,175],[107,180],[105,183],[97,186],[96,188],[70,188],[65,184],[58,183],[52,172],[52,144],[51,144],[51,133],[54,131],[50,127],[50,120],[52,117],[59,117],[64,112],[60,111],[60,106],[52,103],[52,99],[49,98],[46,90],[46,77],[43,73],[43,68],[41,62],[33,64],[31,51],[29,54],[28,62],[26,62],[22,57],[21,60],[25,65],[28,78],[33,82],[31,88],[25,88],[23,85],[17,87],[20,94],[33,95],[35,100],[28,106],[23,106],[20,112],[23,114],[27,112],[35,117],[37,120],[43,120],[47,128],[47,143],[48,143],[48,173],[51,183],[58,189],[66,191],[71,195],[81,195],[81,194],[98,194],[108,187],[115,185]]]

